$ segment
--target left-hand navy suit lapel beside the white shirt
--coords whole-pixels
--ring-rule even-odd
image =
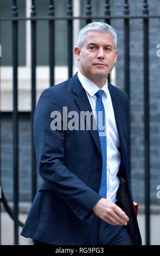
[[[85,89],[82,87],[78,76],[75,74],[72,78],[72,87],[73,87],[73,93],[76,95],[76,105],[78,105],[80,111],[89,111],[90,113],[92,112],[92,108],[91,105],[89,103],[87,94],[85,92]],[[84,117],[85,118],[85,117]],[[95,122],[95,119],[93,117],[93,121]],[[89,126],[89,124],[87,124],[87,120],[85,119],[86,125]],[[91,136],[93,138],[93,141],[95,142],[95,144],[97,145],[97,148],[99,150],[99,153],[101,155],[101,147],[100,147],[100,140],[99,140],[99,134],[98,134],[98,130],[93,130],[92,127],[92,122],[91,122],[91,129],[89,129],[89,132],[91,133]]]

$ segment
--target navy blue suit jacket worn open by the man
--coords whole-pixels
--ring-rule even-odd
[[[133,243],[141,238],[127,172],[129,100],[120,89],[108,83],[120,138],[120,176],[126,180],[130,199]],[[34,115],[34,142],[42,182],[21,235],[56,245],[81,245],[93,217],[93,206],[100,200],[102,157],[98,131],[51,129],[53,111],[62,116],[63,107],[92,112],[84,88],[75,74],[71,79],[47,88],[40,96]],[[70,118],[71,119],[71,118]],[[69,119],[68,119],[69,120]],[[87,122],[87,120],[86,120]],[[80,123],[79,123],[80,127]]]

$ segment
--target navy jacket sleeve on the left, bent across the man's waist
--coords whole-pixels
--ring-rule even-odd
[[[55,90],[43,91],[34,114],[34,143],[37,166],[42,179],[65,200],[81,219],[89,217],[93,206],[101,199],[99,194],[69,171],[65,160],[65,131],[52,129],[50,117],[53,111],[60,113],[62,106]],[[62,127],[61,127],[62,128]]]

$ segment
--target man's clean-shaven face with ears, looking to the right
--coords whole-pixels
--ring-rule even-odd
[[[75,47],[74,53],[79,60],[79,70],[82,75],[95,83],[106,81],[116,64],[118,50],[114,50],[110,33],[88,31],[83,46]]]

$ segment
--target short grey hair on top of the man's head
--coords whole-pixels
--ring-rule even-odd
[[[79,33],[78,33],[78,46],[82,47],[84,44],[84,38],[85,35],[88,31],[101,31],[101,32],[108,32],[112,35],[113,37],[113,44],[114,48],[117,47],[117,33],[112,26],[108,25],[107,23],[104,22],[92,22],[87,24],[85,27],[81,28]]]

